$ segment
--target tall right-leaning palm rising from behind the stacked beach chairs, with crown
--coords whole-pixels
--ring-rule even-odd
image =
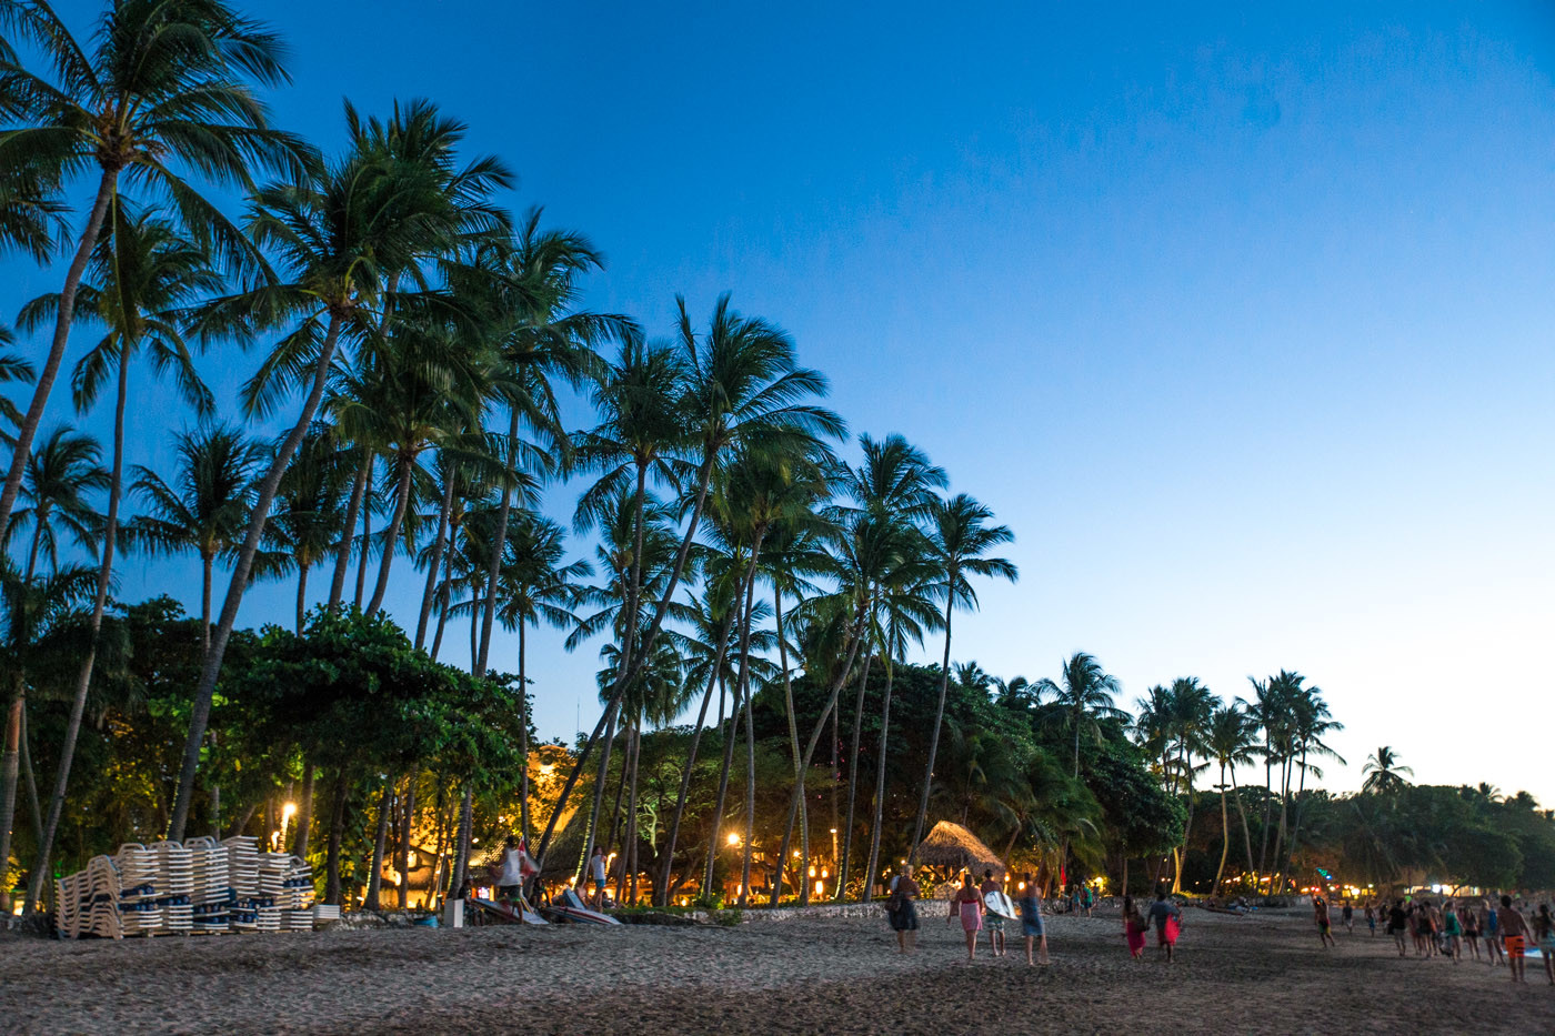
[[[347,121],[358,121],[350,106]],[[306,395],[258,482],[249,527],[238,548],[194,688],[169,821],[174,840],[183,837],[216,677],[264,537],[271,502],[313,425],[336,348],[342,336],[350,341],[373,339],[383,327],[381,314],[389,310],[418,319],[460,320],[460,311],[445,296],[395,292],[389,289],[389,282],[451,250],[470,229],[463,193],[449,191],[446,177],[435,166],[386,156],[367,145],[334,162],[313,163],[292,180],[263,187],[249,202],[247,232],[255,244],[277,257],[278,275],[213,300],[205,308],[201,328],[211,336],[239,339],[250,338],[258,328],[291,328],[244,387],[244,404],[250,414],[263,417],[292,389],[300,387]],[[375,306],[379,306],[376,314]]]

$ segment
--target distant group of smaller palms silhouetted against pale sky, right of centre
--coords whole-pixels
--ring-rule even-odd
[[[1277,675],[1247,678],[1250,700],[1221,702],[1197,678],[1185,677],[1171,684],[1157,684],[1138,702],[1134,722],[1138,744],[1155,761],[1166,790],[1188,804],[1188,824],[1182,846],[1171,852],[1172,890],[1182,888],[1183,857],[1193,831],[1194,778],[1211,765],[1219,768],[1214,789],[1221,800],[1221,829],[1225,832],[1214,888],[1221,887],[1230,854],[1232,826],[1227,792],[1241,818],[1242,848],[1247,873],[1255,885],[1263,880],[1270,888],[1283,888],[1291,857],[1302,831],[1302,809],[1308,775],[1322,778],[1319,759],[1344,762],[1323,737],[1344,725],[1333,719],[1323,692],[1306,683],[1297,672],[1281,669]],[[1236,768],[1263,762],[1264,795],[1261,842],[1256,856],[1236,786]],[[1275,803],[1278,815],[1272,817]],[[1294,817],[1291,806],[1295,804]],[[1269,834],[1274,829],[1274,845]]]

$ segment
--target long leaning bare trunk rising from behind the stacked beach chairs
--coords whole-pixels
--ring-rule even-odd
[[[330,364],[334,359],[334,345],[339,338],[341,317],[331,314],[330,327],[323,334],[323,344],[319,347],[319,359],[316,361],[313,387],[308,392],[308,400],[303,403],[297,423],[292,425],[291,432],[288,432],[286,440],[277,451],[275,460],[271,464],[271,470],[260,482],[260,492],[253,502],[253,516],[249,520],[249,532],[243,540],[243,549],[238,552],[238,563],[232,571],[232,583],[227,586],[227,599],[221,605],[221,621],[211,638],[210,650],[205,652],[205,663],[201,672],[199,684],[194,688],[194,708],[190,714],[190,733],[183,742],[183,768],[179,773],[179,793],[173,806],[173,820],[169,821],[168,831],[171,842],[183,840],[183,826],[188,820],[190,804],[194,798],[194,773],[199,770],[199,747],[205,739],[205,723],[210,720],[211,695],[216,691],[216,678],[221,675],[221,660],[227,652],[227,639],[232,636],[232,628],[238,622],[238,605],[243,604],[243,593],[249,585],[249,572],[253,568],[253,555],[260,549],[260,538],[264,535],[264,523],[269,520],[271,504],[275,502],[275,490],[280,485],[281,474],[286,473],[286,465],[291,464],[292,454],[297,453],[297,445],[308,432],[308,426],[313,423],[313,415],[319,409],[319,400],[323,397],[323,386],[330,376]]]

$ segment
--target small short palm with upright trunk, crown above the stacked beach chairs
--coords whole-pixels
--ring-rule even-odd
[[[211,576],[216,562],[232,562],[253,509],[253,474],[269,450],[235,425],[205,425],[174,439],[177,474],[169,485],[135,465],[131,490],[148,513],[124,524],[131,548],[149,554],[194,554],[201,562],[201,644],[210,650]]]

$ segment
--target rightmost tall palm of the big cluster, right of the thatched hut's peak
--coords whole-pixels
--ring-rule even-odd
[[[939,568],[935,596],[945,602],[945,652],[939,663],[939,706],[935,709],[935,728],[928,736],[928,762],[924,767],[924,790],[917,800],[917,821],[913,824],[913,854],[924,838],[924,820],[928,817],[928,792],[935,782],[935,753],[939,750],[939,728],[945,719],[945,691],[950,688],[950,619],[956,607],[977,608],[977,591],[967,576],[986,576],[1015,582],[1019,572],[1012,562],[986,554],[1003,543],[1011,543],[1015,534],[1008,526],[989,526],[994,512],[966,493],[949,501],[939,501],[928,515],[928,558]]]

